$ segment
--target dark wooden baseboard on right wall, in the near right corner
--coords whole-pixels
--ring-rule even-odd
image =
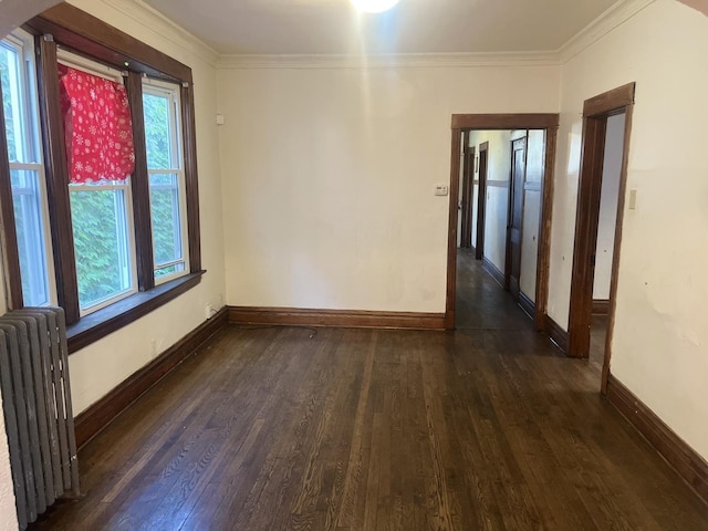
[[[612,374],[607,378],[607,400],[708,503],[708,462]]]

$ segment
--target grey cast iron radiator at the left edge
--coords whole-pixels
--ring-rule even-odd
[[[61,308],[0,317],[0,391],[20,529],[67,491],[80,493],[67,354]]]

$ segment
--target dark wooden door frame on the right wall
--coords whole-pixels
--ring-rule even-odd
[[[622,243],[634,93],[635,83],[629,83],[586,100],[583,105],[583,138],[577,181],[575,239],[568,321],[566,354],[570,357],[589,357],[590,355],[590,326],[593,309],[593,281],[595,278],[594,256],[597,247],[597,226],[600,219],[600,198],[602,194],[607,118],[616,114],[625,113],[624,152],[620,173],[617,218],[612,258],[612,278],[610,281],[605,360],[603,362],[603,391],[606,388],[610,374],[610,345],[612,344],[612,335],[614,333],[617,271]]]

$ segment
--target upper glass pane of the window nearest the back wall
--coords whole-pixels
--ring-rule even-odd
[[[149,169],[173,168],[169,97],[143,93],[145,144]]]

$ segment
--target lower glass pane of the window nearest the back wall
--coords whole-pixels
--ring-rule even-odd
[[[183,269],[163,270],[160,266],[183,259],[179,211],[179,177],[177,174],[150,175],[150,211],[156,275]],[[160,273],[162,272],[162,273]]]

